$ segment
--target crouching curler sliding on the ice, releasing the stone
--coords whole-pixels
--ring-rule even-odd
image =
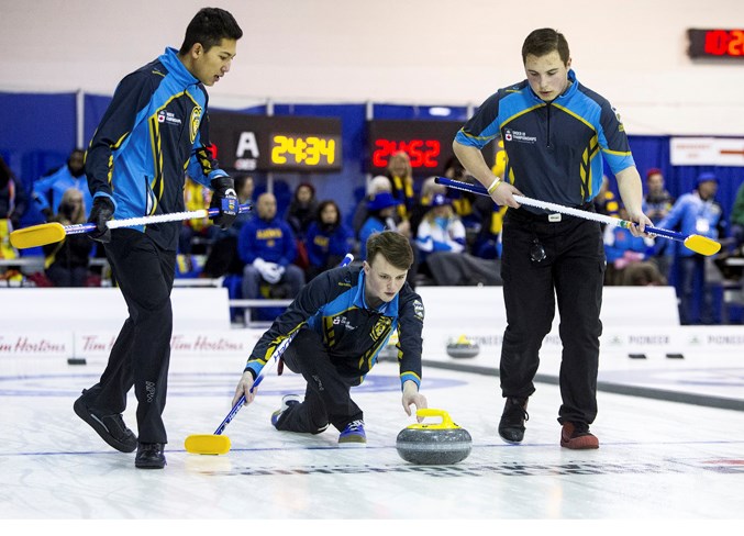
[[[287,311],[276,319],[254,347],[235,390],[255,398],[254,380],[276,348],[293,337],[282,358],[308,381],[304,401],[282,399],[271,416],[277,429],[319,434],[333,425],[341,446],[366,444],[364,414],[352,400],[351,388],[371,370],[390,335],[398,331],[398,362],[402,404],[426,407],[421,384],[421,297],[406,282],[413,250],[404,236],[384,231],[369,237],[363,267],[327,270],[310,281]]]

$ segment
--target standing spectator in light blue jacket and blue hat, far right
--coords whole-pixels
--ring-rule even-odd
[[[723,209],[714,199],[717,192],[715,175],[701,174],[695,190],[680,196],[658,226],[712,239],[725,236],[725,219]],[[712,289],[706,279],[706,258],[682,245],[676,247],[675,287],[679,299],[679,321],[685,325],[712,324],[715,321]],[[697,303],[696,297],[702,301],[701,304]]]

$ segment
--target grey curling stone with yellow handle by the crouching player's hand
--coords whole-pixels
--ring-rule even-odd
[[[420,417],[442,417],[441,423],[417,423],[398,434],[396,448],[406,461],[422,466],[445,466],[463,461],[470,455],[473,438],[452,422],[443,410],[419,410]]]

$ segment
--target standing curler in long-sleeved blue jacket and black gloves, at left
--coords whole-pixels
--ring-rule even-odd
[[[176,248],[180,222],[132,228],[107,226],[112,219],[184,211],[185,174],[214,190],[214,223],[229,227],[237,213],[233,180],[209,147],[207,90],[230,70],[243,31],[229,12],[200,10],[180,49],[167,48],[119,83],[86,156],[93,197],[90,237],[103,243],[126,301],[124,322],[99,382],[75,402],[76,414],[134,465],[162,469],[168,442],[165,409]],[[137,398],[138,438],[124,425],[126,393]]]

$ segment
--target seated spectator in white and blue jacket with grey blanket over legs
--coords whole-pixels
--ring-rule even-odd
[[[465,250],[465,226],[452,202],[435,193],[431,205],[415,241],[421,272],[427,271],[440,286],[497,284],[493,264]]]

